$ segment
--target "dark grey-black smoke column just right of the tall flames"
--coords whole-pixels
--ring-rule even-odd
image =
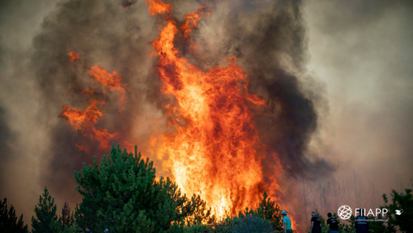
[[[253,30],[248,30],[248,24],[240,20],[242,12],[229,19],[242,24],[226,26],[226,31],[237,39],[229,50],[242,53],[240,61],[251,78],[251,91],[268,103],[268,108],[255,119],[260,139],[277,152],[284,170],[295,177],[334,170],[323,159],[309,161],[304,155],[317,130],[317,108],[324,108],[326,102],[321,95],[306,93],[299,81],[307,57],[301,11],[299,1],[277,1],[268,10],[255,13]],[[290,61],[285,63],[285,59]],[[271,156],[266,161],[271,161]]]

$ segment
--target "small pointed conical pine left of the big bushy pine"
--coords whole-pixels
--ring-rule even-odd
[[[39,206],[34,207],[36,218],[32,216],[32,233],[52,233],[57,221],[56,205],[49,191],[45,188],[43,195],[40,196]],[[57,226],[57,228],[59,228]]]

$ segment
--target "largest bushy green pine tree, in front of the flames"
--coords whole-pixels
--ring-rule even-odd
[[[81,172],[74,171],[83,196],[76,222],[92,232],[182,232],[192,203],[169,179],[157,181],[155,173],[153,162],[141,159],[136,147],[135,154],[127,154],[112,145],[100,165],[95,156],[93,166],[83,163]]]

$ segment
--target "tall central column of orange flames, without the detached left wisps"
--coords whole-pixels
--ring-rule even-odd
[[[234,214],[255,207],[266,188],[261,165],[266,149],[257,136],[251,108],[266,102],[248,92],[248,76],[235,57],[225,67],[211,67],[208,72],[180,57],[174,45],[179,31],[171,5],[160,0],[147,3],[149,13],[162,14],[166,21],[151,45],[158,56],[162,93],[176,99],[176,105],[166,108],[169,131],[151,140],[158,159],[168,154],[164,166],[182,191],[200,194],[218,216],[224,210]],[[197,27],[203,11],[201,7],[185,15],[180,27],[185,39],[191,41],[189,32]]]

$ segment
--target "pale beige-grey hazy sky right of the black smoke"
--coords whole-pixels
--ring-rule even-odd
[[[381,192],[412,179],[411,1],[310,1],[309,72],[326,82],[325,157]],[[333,9],[343,8],[335,11]],[[326,14],[316,14],[325,9]]]

